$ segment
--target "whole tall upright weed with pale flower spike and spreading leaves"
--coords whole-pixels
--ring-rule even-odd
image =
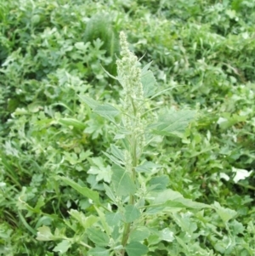
[[[207,239],[209,229],[204,210],[215,209],[226,225],[235,211],[222,208],[218,202],[209,206],[184,198],[169,188],[160,162],[151,162],[146,157],[146,148],[156,136],[182,137],[195,118],[195,111],[162,113],[150,109],[150,100],[160,94],[156,94],[150,64],[140,68],[123,32],[120,44],[121,59],[116,60],[117,76],[113,77],[122,85],[120,104],[101,105],[87,95],[80,95],[86,105],[112,124],[114,143],[102,152],[111,161],[111,168],[97,173],[110,178],[104,183],[104,191],[99,192],[68,176],[55,176],[62,185],[70,185],[87,197],[90,208],[86,212],[69,211],[70,219],[64,219],[64,223],[65,228],[72,230],[72,236],[67,236],[65,228],[52,233],[50,226],[43,225],[38,228],[37,240],[62,240],[53,250],[60,254],[79,244],[83,247],[82,255],[92,256],[160,255],[163,251],[174,255],[214,255],[199,244],[198,237]],[[108,199],[102,200],[105,195]],[[207,229],[199,230],[198,219]]]

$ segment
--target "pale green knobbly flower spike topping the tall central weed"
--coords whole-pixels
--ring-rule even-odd
[[[120,33],[121,60],[116,60],[117,78],[123,88],[123,125],[127,131],[131,131],[133,142],[135,141],[134,154],[140,156],[145,144],[144,124],[144,89],[141,82],[141,69],[138,58],[128,49],[127,37]]]

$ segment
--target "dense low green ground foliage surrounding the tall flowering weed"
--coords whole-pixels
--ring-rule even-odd
[[[94,213],[56,174],[107,200],[111,162],[101,152],[111,123],[78,95],[118,102],[120,85],[102,66],[116,74],[120,31],[143,64],[153,60],[158,90],[174,87],[151,107],[199,112],[181,138],[150,144],[146,159],[162,165],[154,175],[185,198],[237,213],[227,226],[210,210],[161,216],[150,225],[179,241],[155,241],[148,255],[254,255],[254,8],[254,0],[1,2],[0,255],[55,255],[37,229],[65,229],[73,210]]]

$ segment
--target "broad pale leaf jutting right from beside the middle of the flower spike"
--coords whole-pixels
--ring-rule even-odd
[[[189,122],[195,118],[195,111],[170,111],[159,117],[157,123],[152,124],[154,134],[163,136],[175,135],[182,137]]]

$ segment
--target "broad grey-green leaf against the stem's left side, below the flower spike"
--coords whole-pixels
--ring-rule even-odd
[[[126,170],[117,165],[113,165],[112,172],[111,181],[116,196],[134,195],[136,187]]]

